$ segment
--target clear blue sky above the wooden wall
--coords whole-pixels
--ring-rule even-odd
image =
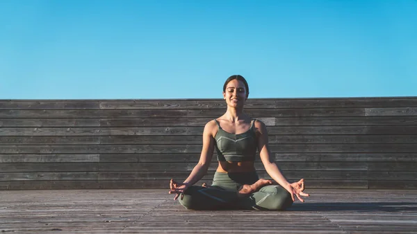
[[[417,1],[0,0],[0,99],[417,96]]]

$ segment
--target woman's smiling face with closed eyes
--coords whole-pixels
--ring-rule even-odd
[[[228,106],[243,107],[246,101],[245,84],[240,80],[231,80],[226,86],[226,91],[223,92],[223,98]]]

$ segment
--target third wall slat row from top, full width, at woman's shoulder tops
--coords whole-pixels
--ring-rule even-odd
[[[417,125],[417,116],[265,117],[267,126]],[[0,127],[202,127],[213,118],[0,118]]]

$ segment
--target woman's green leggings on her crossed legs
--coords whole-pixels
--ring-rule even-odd
[[[238,197],[237,191],[243,184],[258,181],[256,172],[221,173],[215,172],[209,188],[191,186],[179,203],[192,210],[285,210],[293,204],[290,193],[281,186],[264,186],[258,192]]]

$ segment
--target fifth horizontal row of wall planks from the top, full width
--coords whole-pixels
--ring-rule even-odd
[[[199,145],[202,136],[0,136],[0,145]],[[417,135],[272,135],[270,144],[416,144]],[[370,146],[372,147],[372,146]],[[388,147],[388,146],[387,146]]]

